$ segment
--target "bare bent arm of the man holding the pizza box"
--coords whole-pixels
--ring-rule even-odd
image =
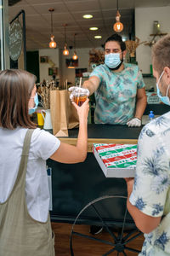
[[[138,229],[141,230],[143,233],[148,234],[152,230],[155,230],[156,227],[160,224],[161,217],[151,217],[149,215],[146,215],[130,203],[129,197],[133,191],[134,179],[125,178],[125,180],[127,182],[127,210],[133,217],[133,220]]]

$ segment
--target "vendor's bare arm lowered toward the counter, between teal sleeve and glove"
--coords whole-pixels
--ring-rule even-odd
[[[137,90],[137,102],[136,102],[136,111],[134,117],[142,119],[144,110],[147,104],[147,96],[145,94],[145,89],[141,88]]]

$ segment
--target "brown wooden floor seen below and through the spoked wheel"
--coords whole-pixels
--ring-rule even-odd
[[[55,233],[55,255],[56,256],[69,256],[70,253],[70,234],[71,234],[71,224],[58,224],[52,223],[52,229]],[[76,225],[74,231],[80,232],[82,234],[89,235],[88,225]],[[95,235],[94,237],[111,241],[111,236],[103,231],[102,233]],[[133,247],[135,249],[141,250],[144,241],[144,236],[139,236],[134,241],[128,243],[128,247]],[[87,238],[80,236],[74,236],[73,238],[73,251],[74,256],[102,256],[104,253],[111,250],[111,246],[100,243],[99,241],[91,241]],[[125,251],[128,256],[137,256],[138,253],[132,253]],[[122,256],[123,253],[111,253],[109,256]]]

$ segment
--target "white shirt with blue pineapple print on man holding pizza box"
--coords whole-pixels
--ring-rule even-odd
[[[153,119],[139,135],[129,201],[146,215],[162,217],[158,227],[144,235],[139,255],[170,255],[170,112]]]

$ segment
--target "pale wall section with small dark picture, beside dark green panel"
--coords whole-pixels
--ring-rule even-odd
[[[54,67],[59,68],[59,49],[39,49],[40,82],[42,82],[43,79],[52,79],[52,76],[48,76],[48,67],[51,67],[50,62],[41,63],[41,56],[48,56],[48,59],[54,62]],[[59,78],[59,74],[56,76],[56,78]]]

